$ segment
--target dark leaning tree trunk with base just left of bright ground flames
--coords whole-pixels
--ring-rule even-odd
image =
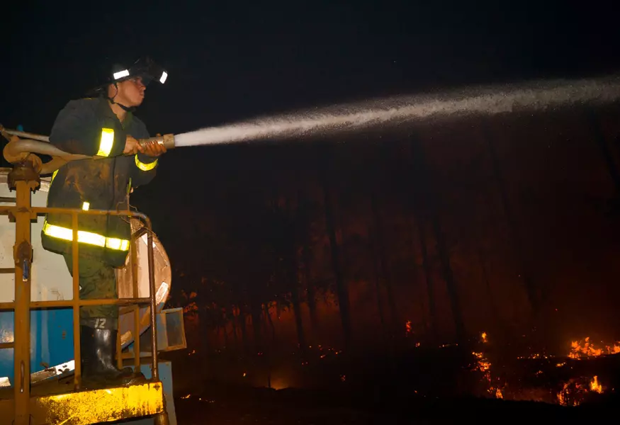
[[[424,206],[429,208],[428,216],[430,217],[434,230],[437,253],[439,254],[439,261],[441,263],[441,273],[446,282],[446,289],[448,291],[450,306],[452,308],[456,339],[457,341],[464,341],[466,334],[465,324],[463,323],[463,312],[461,311],[461,303],[458,299],[456,281],[454,279],[452,267],[450,266],[450,256],[446,245],[446,237],[444,236],[443,229],[441,229],[441,224],[439,222],[439,206],[437,205],[436,195],[433,191],[429,190],[432,186],[432,176],[426,164],[426,160],[424,159],[424,152],[422,150],[421,142],[415,137],[412,138],[411,149],[415,169],[419,173],[417,174],[418,178],[416,179],[418,194],[422,200],[422,203],[424,203]],[[421,186],[422,182],[424,182],[426,186]]]

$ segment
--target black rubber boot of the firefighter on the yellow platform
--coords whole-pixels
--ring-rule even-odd
[[[85,386],[128,385],[145,380],[142,373],[134,373],[132,368],[116,367],[115,329],[94,329],[80,327],[81,367]]]

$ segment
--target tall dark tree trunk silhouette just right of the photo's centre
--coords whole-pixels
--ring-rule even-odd
[[[338,295],[338,306],[340,310],[340,320],[342,322],[342,333],[344,336],[344,346],[348,349],[351,346],[351,312],[349,307],[349,290],[347,288],[342,268],[340,266],[339,246],[336,239],[336,227],[334,225],[334,212],[332,209],[332,200],[329,196],[329,183],[327,178],[329,157],[325,157],[325,166],[327,169],[320,173],[323,200],[325,208],[325,226],[329,236],[329,244],[332,251],[332,268],[334,270],[334,278],[336,279],[336,293]]]

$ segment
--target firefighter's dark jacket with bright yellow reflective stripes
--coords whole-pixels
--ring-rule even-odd
[[[69,101],[58,114],[50,143],[64,152],[99,156],[68,162],[54,176],[47,196],[50,208],[126,210],[131,187],[149,183],[157,159],[145,154],[124,155],[127,135],[150,137],[146,126],[133,113],[123,123],[106,99]],[[122,266],[128,254],[129,217],[79,215],[79,253]],[[41,239],[43,248],[60,254],[72,251],[71,215],[48,214]]]

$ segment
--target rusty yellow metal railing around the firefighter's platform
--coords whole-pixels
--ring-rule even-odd
[[[15,421],[14,424],[29,424],[30,416],[30,310],[44,308],[72,307],[73,310],[73,334],[74,334],[74,390],[79,391],[81,387],[81,351],[80,351],[80,331],[79,331],[79,312],[80,307],[87,305],[119,305],[129,306],[129,310],[134,312],[134,365],[137,371],[140,370],[140,306],[150,305],[150,326],[151,326],[151,379],[159,380],[158,358],[157,358],[157,323],[156,323],[156,290],[154,281],[154,254],[153,254],[153,235],[150,219],[141,212],[130,210],[81,210],[77,208],[43,208],[32,207],[30,205],[30,186],[27,181],[16,181],[16,205],[0,206],[0,215],[9,215],[16,222],[16,244],[14,246],[15,268],[7,268],[3,271],[15,273],[15,301],[0,302],[1,310],[14,310],[14,331],[13,342],[0,344],[0,348],[14,348],[14,370],[15,383],[13,392],[15,395]],[[30,220],[36,219],[40,215],[46,214],[67,214],[72,217],[72,277],[73,277],[73,297],[72,300],[54,301],[32,301],[30,300],[30,265],[32,261],[32,245],[30,238]],[[135,217],[140,219],[142,227],[138,232],[133,233],[130,239],[130,266],[132,267],[132,298],[81,300],[79,297],[79,242],[78,242],[78,215],[115,215],[123,217]],[[138,292],[137,285],[137,251],[135,241],[137,237],[147,234],[147,255],[149,268],[149,288],[150,296],[145,298],[136,297]],[[126,309],[124,309],[126,310]],[[116,352],[118,367],[123,365],[123,355],[121,353],[120,332],[117,338]],[[28,378],[26,378],[28,377]]]

